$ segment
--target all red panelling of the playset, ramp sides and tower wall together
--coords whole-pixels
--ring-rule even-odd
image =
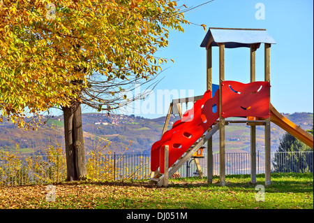
[[[257,81],[244,84],[236,81],[221,83],[222,117],[263,117],[269,112],[269,82]],[[216,108],[214,108],[216,107]],[[181,120],[166,131],[160,141],[151,147],[151,171],[160,167],[164,173],[165,145],[169,145],[169,166],[172,166],[188,148],[197,141],[219,117],[219,91],[211,98],[211,91],[194,103]]]

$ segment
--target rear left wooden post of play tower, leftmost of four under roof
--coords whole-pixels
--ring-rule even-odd
[[[212,62],[211,62],[211,45],[207,48],[207,89],[213,90],[212,85]],[[211,95],[213,96],[213,95]],[[213,138],[207,141],[207,183],[213,183],[214,159],[213,159]]]

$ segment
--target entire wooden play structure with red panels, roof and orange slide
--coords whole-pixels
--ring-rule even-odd
[[[255,80],[255,52],[264,44],[264,80]],[[214,161],[212,136],[219,130],[220,185],[225,185],[225,126],[246,123],[251,128],[251,182],[256,182],[256,126],[264,126],[265,185],[271,184],[271,126],[274,122],[313,148],[313,136],[287,120],[270,103],[270,48],[275,44],[266,29],[209,28],[202,44],[207,50],[207,91],[203,96],[175,99],[163,127],[162,137],[151,147],[151,183],[167,186],[168,178],[193,157],[202,176],[197,154],[207,143],[208,183],[212,183]],[[219,86],[212,84],[212,48],[219,48]],[[249,83],[225,80],[225,49],[250,48]],[[181,103],[194,102],[193,108],[181,113]],[[167,131],[170,115],[177,110],[181,120]],[[230,117],[242,117],[232,120]],[[200,155],[200,157],[202,157]]]

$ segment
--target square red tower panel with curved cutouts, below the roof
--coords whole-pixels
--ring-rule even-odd
[[[227,80],[222,82],[221,91],[223,117],[269,117],[269,82],[244,84]]]

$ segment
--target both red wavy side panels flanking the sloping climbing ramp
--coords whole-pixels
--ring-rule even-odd
[[[169,145],[171,166],[214,124],[219,117],[218,101],[219,91],[211,97],[211,91],[207,90],[202,99],[184,113],[181,120],[174,122],[172,129],[166,131],[160,141],[151,147],[151,171],[160,167],[160,173],[164,173],[165,145]]]

